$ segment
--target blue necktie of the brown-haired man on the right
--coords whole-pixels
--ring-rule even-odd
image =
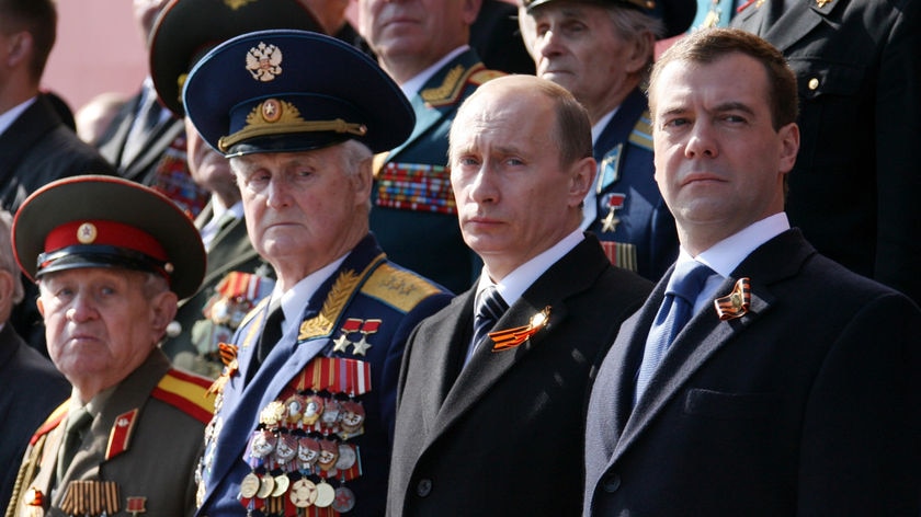
[[[683,262],[675,267],[666,288],[666,298],[659,307],[659,312],[649,330],[649,336],[646,338],[646,349],[643,352],[643,363],[636,380],[634,404],[646,390],[652,374],[659,367],[674,337],[691,320],[694,301],[707,278],[713,274],[713,269],[696,261]]]

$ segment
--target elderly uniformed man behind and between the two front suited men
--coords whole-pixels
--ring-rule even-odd
[[[524,0],[521,27],[537,76],[585,106],[598,161],[582,229],[611,262],[658,280],[678,256],[674,219],[653,180],[643,92],[656,39],[685,31],[694,0]]]

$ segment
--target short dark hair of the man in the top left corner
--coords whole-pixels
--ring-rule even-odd
[[[32,35],[34,54],[30,70],[37,81],[45,72],[57,37],[57,9],[53,0],[0,0],[0,31]]]

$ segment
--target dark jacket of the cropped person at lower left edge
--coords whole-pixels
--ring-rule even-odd
[[[41,389],[38,389],[41,388]],[[32,433],[70,395],[70,383],[10,324],[0,331],[0,508],[10,501],[22,455]]]

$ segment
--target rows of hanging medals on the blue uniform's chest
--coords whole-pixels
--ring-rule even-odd
[[[250,513],[331,517],[354,508],[346,482],[360,476],[362,467],[359,447],[349,440],[364,432],[360,397],[369,382],[356,386],[346,378],[366,367],[354,359],[315,359],[262,409],[245,457],[251,472],[240,484],[239,501]],[[317,379],[320,369],[352,375],[305,381]]]

